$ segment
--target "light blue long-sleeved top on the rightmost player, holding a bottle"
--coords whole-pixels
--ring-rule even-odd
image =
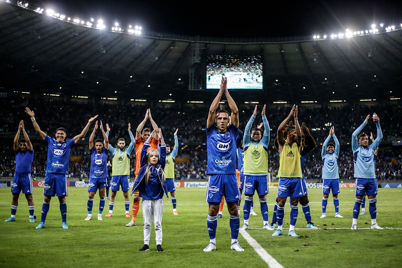
[[[364,120],[352,134],[352,150],[353,150],[353,162],[355,167],[355,178],[375,178],[374,170],[374,151],[382,140],[382,132],[380,122],[377,122],[377,138],[374,142],[367,147],[360,146],[357,140],[357,136],[360,131],[367,124],[367,120]]]

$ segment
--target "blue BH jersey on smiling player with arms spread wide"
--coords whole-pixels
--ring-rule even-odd
[[[68,160],[71,148],[75,146],[74,139],[58,142],[46,135],[47,143],[46,172],[68,174]]]

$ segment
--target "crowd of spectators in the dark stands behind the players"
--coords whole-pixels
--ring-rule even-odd
[[[35,155],[32,164],[32,174],[36,177],[45,175],[47,147],[34,132],[25,107],[30,107],[35,112],[35,118],[39,126],[49,136],[54,136],[58,127],[67,130],[67,139],[81,133],[87,120],[94,115],[99,115],[103,124],[109,123],[111,132],[110,144],[115,146],[117,139],[125,138],[126,144],[130,142],[127,127],[131,123],[131,130],[135,135],[137,124],[144,118],[149,104],[135,102],[122,103],[93,103],[73,102],[61,99],[37,99],[33,98],[7,98],[0,99],[0,176],[10,177],[15,170],[15,156],[13,152],[13,137],[17,132],[20,120],[25,120],[26,130],[34,145]],[[262,105],[260,105],[262,108]],[[254,106],[238,105],[240,130],[244,130],[247,121],[253,113]],[[179,128],[179,153],[176,161],[176,178],[178,179],[202,179],[206,178],[205,169],[207,162],[205,123],[209,104],[202,105],[164,105],[156,104],[151,107],[152,118],[162,129],[167,143],[174,145],[173,133]],[[226,108],[223,105],[221,108]],[[259,109],[259,113],[261,112]],[[227,108],[226,108],[227,109]],[[273,147],[276,129],[280,122],[287,116],[290,108],[287,106],[268,106],[266,115],[270,124],[270,148],[269,171],[276,176],[278,171],[278,153]],[[319,180],[321,176],[321,145],[328,136],[330,126],[335,126],[335,134],[340,143],[339,167],[340,176],[344,180],[353,179],[353,154],[351,150],[351,134],[365,119],[368,114],[376,112],[380,117],[383,140],[380,144],[376,174],[380,180],[402,180],[402,146],[392,146],[392,141],[402,139],[401,120],[402,108],[399,106],[367,106],[349,105],[338,107],[299,107],[299,122],[304,122],[310,129],[317,147],[306,156],[305,176],[309,179]],[[257,116],[255,125],[260,123],[261,116]],[[149,121],[145,127],[151,127]],[[91,126],[86,140],[81,141],[71,150],[72,156],[77,156],[76,161],[70,161],[69,177],[87,178],[89,174],[90,155],[88,149],[88,137],[92,131]],[[365,127],[368,134],[376,137],[375,125],[371,122]],[[100,132],[97,133],[101,138]],[[135,170],[135,153],[131,154],[131,173]]]

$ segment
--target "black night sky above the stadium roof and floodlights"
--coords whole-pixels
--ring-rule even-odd
[[[141,25],[145,31],[205,37],[284,37],[366,30],[402,23],[397,1],[94,1],[32,0],[66,16]],[[258,3],[258,4],[257,4]]]

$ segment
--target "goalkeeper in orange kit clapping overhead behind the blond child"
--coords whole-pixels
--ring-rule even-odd
[[[144,119],[141,121],[141,123],[139,123],[136,131],[135,131],[135,178],[134,180],[136,180],[136,177],[138,175],[139,172],[139,168],[141,166],[141,151],[142,151],[142,146],[144,145],[144,142],[148,139],[149,135],[151,135],[151,130],[149,128],[144,128],[145,122],[149,119],[149,121],[151,122],[152,128],[153,130],[155,130],[155,135],[152,138],[152,140],[150,141],[150,148],[148,148],[148,150],[151,149],[157,149],[158,146],[158,126],[156,125],[155,121],[153,121],[152,116],[151,116],[151,110],[147,109],[145,112],[145,117]],[[142,131],[142,132],[141,132]],[[142,134],[141,134],[142,133]],[[136,223],[136,218],[137,218],[137,213],[138,213],[138,209],[139,209],[139,202],[140,202],[141,198],[138,195],[138,192],[134,192],[134,200],[133,200],[133,204],[131,206],[131,210],[132,210],[132,217],[129,223],[126,224],[127,227],[130,226],[135,226]]]

